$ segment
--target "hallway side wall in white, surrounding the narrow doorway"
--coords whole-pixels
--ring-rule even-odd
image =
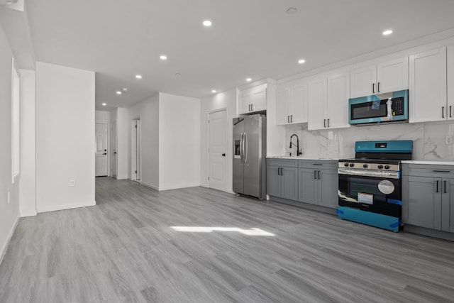
[[[159,189],[159,94],[145,99],[128,109],[129,151],[131,155],[132,121],[140,117],[141,126],[141,175],[140,183]],[[129,177],[132,174],[131,156],[128,159]]]

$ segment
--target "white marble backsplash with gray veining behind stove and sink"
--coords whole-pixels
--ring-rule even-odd
[[[285,151],[296,155],[297,139],[289,148],[290,136],[296,133],[303,156],[316,158],[355,158],[355,141],[412,140],[414,160],[454,160],[454,145],[446,144],[446,136],[454,137],[454,123],[396,123],[351,126],[333,130],[308,131],[307,124],[285,126]],[[454,139],[454,138],[453,138]]]

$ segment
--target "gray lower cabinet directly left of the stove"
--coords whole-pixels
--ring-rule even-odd
[[[298,201],[336,209],[338,207],[337,161],[301,160]]]

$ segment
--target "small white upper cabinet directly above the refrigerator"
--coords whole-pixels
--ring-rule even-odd
[[[239,91],[238,114],[249,114],[267,109],[267,84]]]

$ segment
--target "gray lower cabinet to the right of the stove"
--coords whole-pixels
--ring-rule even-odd
[[[454,232],[454,166],[402,165],[402,220]]]

